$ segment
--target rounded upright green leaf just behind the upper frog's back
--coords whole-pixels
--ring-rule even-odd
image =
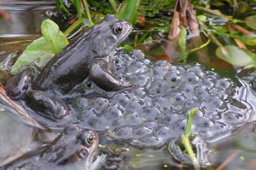
[[[67,46],[68,41],[63,32],[60,31],[59,26],[50,19],[45,19],[41,25],[41,32],[47,43],[51,46],[54,54],[57,54]]]

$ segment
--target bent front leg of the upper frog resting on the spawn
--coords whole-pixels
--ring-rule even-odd
[[[93,60],[89,76],[92,81],[106,91],[117,91],[126,87],[133,87],[133,84],[124,83],[109,73],[109,64],[105,59]]]

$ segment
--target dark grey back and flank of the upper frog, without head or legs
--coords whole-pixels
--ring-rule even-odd
[[[39,85],[37,88],[68,93],[75,85],[85,80],[92,59],[99,56],[92,39],[92,36],[96,35],[95,30],[88,30],[50,59],[36,82]]]

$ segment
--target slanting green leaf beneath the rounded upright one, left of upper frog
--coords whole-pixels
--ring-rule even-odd
[[[36,59],[40,59],[38,66],[42,66],[43,63],[48,61],[53,55],[52,49],[47,44],[44,37],[36,39],[33,41],[26,49],[23,51],[22,55],[19,56],[16,63],[12,66],[11,73],[16,74],[22,66],[32,63]]]

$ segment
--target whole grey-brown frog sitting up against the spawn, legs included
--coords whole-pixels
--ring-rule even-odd
[[[109,73],[108,65],[131,29],[129,22],[107,15],[53,56],[43,70],[29,66],[12,76],[5,85],[6,93],[14,100],[22,98],[33,110],[60,119],[67,116],[68,109],[54,96],[69,93],[88,77],[106,91],[132,87]]]

